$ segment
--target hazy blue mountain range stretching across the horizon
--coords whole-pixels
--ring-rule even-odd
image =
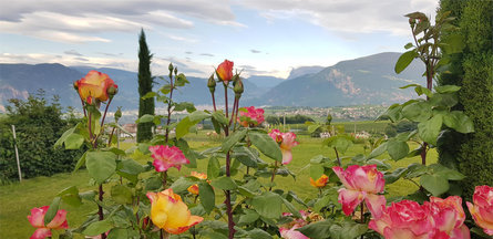
[[[242,105],[279,106],[341,106],[361,104],[392,104],[413,96],[411,90],[400,86],[423,83],[424,67],[414,61],[400,74],[393,66],[400,53],[386,52],[355,60],[341,61],[336,65],[302,66],[292,69],[287,79],[254,75],[244,81],[245,93]],[[30,93],[42,89],[47,96],[59,95],[63,106],[80,106],[72,83],[93,70],[86,66],[62,64],[3,64],[0,63],[0,112],[7,100],[27,98]],[[106,73],[119,85],[114,106],[136,110],[138,106],[137,73],[117,69],[95,69]],[[186,73],[185,73],[186,74]],[[207,80],[187,76],[191,84],[181,89],[174,98],[196,105],[210,104]],[[163,82],[156,77],[155,89]],[[217,103],[224,102],[216,91]],[[160,105],[157,105],[160,106]]]

